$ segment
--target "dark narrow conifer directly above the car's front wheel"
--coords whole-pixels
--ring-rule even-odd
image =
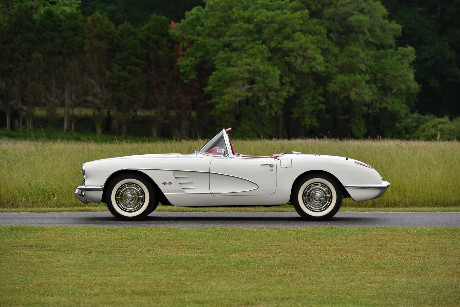
[[[117,116],[122,120],[122,135],[145,98],[145,50],[140,35],[128,22],[122,23],[115,34],[114,58],[107,78],[115,93]]]

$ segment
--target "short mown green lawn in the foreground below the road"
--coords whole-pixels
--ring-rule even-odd
[[[460,229],[0,227],[1,306],[459,306]]]

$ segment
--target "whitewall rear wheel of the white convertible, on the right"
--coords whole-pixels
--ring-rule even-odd
[[[305,220],[327,220],[342,205],[342,189],[333,176],[308,174],[294,184],[292,200],[295,210]]]

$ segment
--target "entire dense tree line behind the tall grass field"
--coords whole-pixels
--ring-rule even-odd
[[[458,0],[1,0],[0,123],[34,127],[38,107],[72,131],[92,108],[98,134],[126,134],[143,110],[146,133],[179,139],[227,125],[455,138],[458,13]]]

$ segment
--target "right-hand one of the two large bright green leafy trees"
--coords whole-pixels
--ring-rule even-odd
[[[409,113],[418,92],[414,50],[395,48],[401,27],[387,19],[378,1],[322,1],[307,7],[328,32],[328,130],[335,134],[334,126],[344,121],[349,136],[388,134]]]

